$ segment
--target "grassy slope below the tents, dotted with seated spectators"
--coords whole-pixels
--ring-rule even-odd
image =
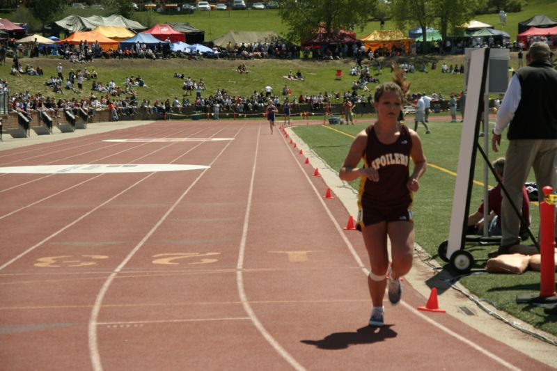
[[[444,59],[436,57],[428,58],[399,58],[400,61],[413,61],[418,65],[421,61],[425,61],[430,65],[431,61],[441,61]],[[203,79],[207,85],[205,95],[214,93],[217,89],[226,89],[232,95],[251,95],[253,90],[261,90],[265,86],[270,85],[274,88],[274,92],[278,95],[285,84],[292,89],[294,95],[300,94],[317,94],[325,91],[343,93],[350,90],[352,81],[350,67],[354,65],[354,61],[301,61],[295,60],[251,60],[245,61],[249,69],[249,74],[239,74],[235,71],[240,61],[228,60],[201,60],[190,61],[187,59],[170,59],[164,61],[148,61],[143,59],[130,60],[106,60],[97,59],[93,63],[88,64],[72,64],[69,61],[61,61],[59,58],[22,58],[22,65],[40,65],[45,71],[44,77],[38,76],[20,76],[15,77],[9,73],[11,63],[0,65],[0,75],[8,81],[10,90],[13,93],[29,90],[31,92],[40,92],[43,95],[53,95],[52,88],[45,86],[44,83],[50,76],[56,76],[56,65],[62,63],[63,74],[66,77],[71,69],[77,71],[85,67],[88,70],[95,69],[99,75],[99,81],[107,84],[113,79],[116,84],[121,85],[126,76],[140,75],[145,79],[147,86],[145,88],[136,88],[137,94],[141,99],[166,99],[166,97],[180,97],[183,94],[182,80],[176,79],[175,72],[180,72],[192,79]],[[448,64],[459,64],[464,62],[462,56],[450,56],[446,59]],[[384,61],[389,63],[389,61]],[[125,66],[125,68],[124,68]],[[375,65],[370,66],[372,73],[379,81],[390,81],[391,73],[389,68],[383,68],[382,74],[377,74]],[[441,71],[430,71],[430,73],[416,72],[408,74],[409,81],[412,82],[411,89],[413,91],[427,91],[443,93],[448,95],[451,92],[460,92],[462,90],[462,75],[460,74],[441,74]],[[305,81],[288,81],[283,76],[292,70],[297,72],[300,70],[304,73]],[[343,70],[342,79],[335,79],[336,70]],[[91,93],[91,81],[85,81],[84,90],[81,93],[71,93],[65,90],[61,97],[87,97]],[[370,90],[373,90],[376,84],[369,84]],[[362,94],[368,93],[360,90]]]

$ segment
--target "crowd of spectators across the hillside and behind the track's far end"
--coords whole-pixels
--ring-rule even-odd
[[[538,40],[538,39],[536,39]],[[534,40],[531,40],[532,42]],[[446,45],[450,47],[451,45]],[[462,47],[466,45],[461,45]],[[524,47],[521,43],[515,45],[518,48]],[[457,47],[460,47],[457,45]],[[313,50],[313,49],[312,49]],[[225,48],[214,48],[214,54],[217,56],[232,56],[240,58],[297,58],[300,55],[301,49],[287,45],[281,42],[274,43],[256,43],[256,44],[240,44],[232,45],[229,43]],[[27,96],[28,94],[19,94],[12,97],[12,108],[16,111],[22,111],[24,113],[29,113],[29,110],[45,110],[47,113],[52,114],[54,117],[59,117],[60,111],[64,109],[75,109],[81,107],[90,111],[91,114],[97,109],[106,109],[111,107],[111,110],[115,111],[113,118],[117,119],[117,116],[121,115],[134,115],[139,112],[146,113],[157,113],[159,117],[164,117],[168,113],[185,113],[186,111],[194,111],[210,113],[222,111],[223,113],[257,113],[264,110],[267,106],[268,99],[271,98],[273,104],[278,108],[281,107],[283,102],[288,101],[292,109],[295,109],[297,104],[309,104],[312,109],[324,109],[327,104],[340,102],[342,100],[350,100],[353,104],[371,104],[372,95],[370,93],[370,88],[368,88],[369,83],[379,83],[379,79],[376,77],[382,72],[382,64],[379,60],[379,56],[391,56],[391,55],[401,55],[407,54],[408,51],[404,49],[386,49],[385,47],[378,48],[373,51],[371,49],[366,50],[364,45],[355,43],[354,45],[348,44],[338,44],[334,46],[323,48],[316,48],[313,52],[320,54],[324,51],[324,56],[330,56],[333,58],[347,58],[355,57],[356,65],[350,68],[350,75],[357,77],[356,81],[352,82],[352,86],[347,89],[344,93],[317,93],[315,95],[299,95],[292,96],[291,90],[289,93],[288,89],[283,89],[283,97],[279,98],[277,95],[270,94],[269,91],[262,89],[260,91],[254,90],[251,95],[232,95],[230,96],[226,89],[220,88],[213,90],[211,94],[207,94],[207,86],[203,79],[191,79],[191,77],[186,77],[185,74],[176,73],[175,77],[180,78],[183,81],[182,89],[184,93],[179,99],[174,97],[173,100],[170,98],[166,100],[156,100],[151,104],[149,100],[143,100],[139,102],[136,89],[146,86],[146,82],[141,79],[141,77],[126,77],[122,84],[116,84],[113,79],[109,80],[106,84],[98,79],[97,72],[91,65],[86,65],[83,68],[71,69],[68,76],[64,79],[61,64],[58,65],[56,70],[58,76],[51,76],[45,85],[52,88],[54,96],[64,95],[64,92],[70,90],[72,93],[82,93],[84,90],[88,90],[88,87],[84,87],[84,84],[91,84],[91,96],[88,99],[79,98],[68,98],[60,97],[58,100],[54,100],[53,97],[43,97],[40,94],[34,96]],[[92,62],[94,58],[168,58],[173,56],[172,52],[168,50],[168,43],[160,42],[155,49],[150,49],[145,44],[137,43],[132,48],[127,50],[118,51],[105,51],[100,47],[98,42],[93,44],[87,44],[86,42],[81,42],[79,45],[70,45],[65,43],[59,49],[59,52],[63,58],[67,58],[69,61],[74,63],[88,63]],[[305,54],[305,51],[302,52]],[[366,65],[362,65],[363,58],[368,58],[369,62]],[[26,65],[23,67],[19,63],[19,57],[17,53],[14,54],[13,58],[12,73],[13,74],[26,74],[30,76],[42,76],[43,71],[40,66],[33,68],[31,65]],[[375,76],[370,70],[375,66],[377,72]],[[407,63],[402,63],[400,67],[405,71],[405,73],[416,72],[416,67],[414,63],[410,61]],[[91,68],[91,70],[89,70]],[[431,69],[435,70],[437,68],[437,63],[432,63]],[[425,63],[421,63],[418,69],[421,72],[427,72],[427,66]],[[240,63],[237,68],[237,72],[247,73],[247,67],[245,63]],[[447,66],[446,63],[441,65],[441,72],[446,74],[462,74],[464,73],[464,65],[450,65]],[[301,74],[301,72],[299,72]],[[288,75],[289,79],[295,79],[292,72]],[[303,76],[301,77],[303,80]],[[0,84],[0,88],[6,88],[6,84]],[[195,92],[195,97],[194,97]],[[95,94],[99,95],[100,98],[97,99]],[[412,100],[413,97],[409,97]],[[442,95],[436,97],[437,100],[443,100]]]

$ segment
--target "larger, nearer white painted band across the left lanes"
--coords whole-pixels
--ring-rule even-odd
[[[74,164],[74,165],[38,165],[8,166],[0,173],[10,174],[99,174],[99,173],[157,173],[162,171],[203,170],[204,165],[174,164]]]

